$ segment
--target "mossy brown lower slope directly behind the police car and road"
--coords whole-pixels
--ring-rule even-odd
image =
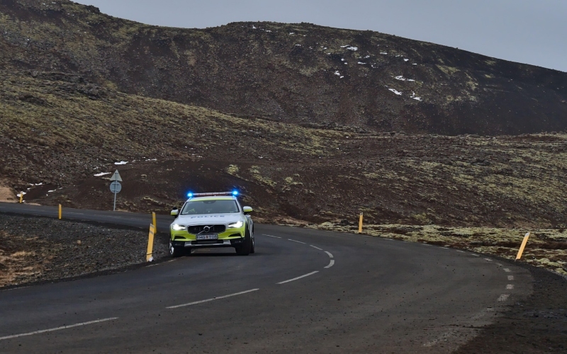
[[[264,222],[349,227],[364,212],[375,224],[567,228],[564,133],[315,129],[50,72],[0,71],[0,113],[0,187],[26,202],[108,210],[120,169],[122,210],[168,212],[188,190],[237,187]]]

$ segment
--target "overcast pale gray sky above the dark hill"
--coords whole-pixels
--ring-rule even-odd
[[[79,0],[129,20],[184,28],[235,21],[377,30],[567,72],[567,0]]]

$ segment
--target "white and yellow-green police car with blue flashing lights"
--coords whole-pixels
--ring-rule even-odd
[[[252,207],[242,207],[237,191],[189,193],[180,210],[172,210],[169,254],[179,257],[198,248],[234,247],[236,253],[254,253]]]

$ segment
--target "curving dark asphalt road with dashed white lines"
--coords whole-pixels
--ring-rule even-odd
[[[0,212],[57,215],[3,203]],[[93,210],[64,217],[150,222]],[[158,229],[169,222],[159,217]],[[0,291],[0,352],[449,353],[531,292],[527,270],[456,249],[263,224],[255,236],[250,256],[200,250]]]

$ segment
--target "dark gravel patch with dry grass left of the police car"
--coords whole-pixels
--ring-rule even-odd
[[[0,215],[0,287],[109,273],[145,263],[147,231],[46,217]],[[167,235],[155,261],[169,256]]]

